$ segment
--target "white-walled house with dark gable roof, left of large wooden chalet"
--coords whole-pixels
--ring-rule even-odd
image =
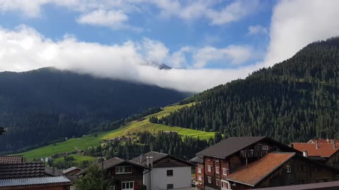
[[[143,176],[148,190],[191,188],[191,167],[194,166],[192,163],[155,151],[145,153],[131,161],[150,167],[151,171],[144,171]]]

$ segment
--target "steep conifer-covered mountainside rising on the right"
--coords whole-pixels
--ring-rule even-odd
[[[339,138],[339,37],[314,42],[295,56],[244,80],[203,91],[197,102],[155,120],[230,136],[268,136],[290,143]]]

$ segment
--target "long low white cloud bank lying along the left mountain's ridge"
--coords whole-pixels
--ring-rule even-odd
[[[186,64],[185,53],[200,51],[192,50],[191,47],[182,47],[179,51],[169,54],[164,44],[152,39],[109,46],[79,42],[70,36],[54,42],[25,25],[15,31],[0,29],[0,44],[1,71],[25,71],[54,66],[90,73],[97,77],[132,80],[182,91],[203,91],[235,78],[245,77],[254,69],[242,67],[159,70],[146,65],[145,60],[147,58],[158,61],[177,60],[175,64],[182,65]],[[227,51],[232,52],[230,49]],[[217,54],[214,53],[215,56],[218,56]]]

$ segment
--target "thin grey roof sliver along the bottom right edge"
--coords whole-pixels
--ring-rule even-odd
[[[339,181],[336,182],[323,182],[317,184],[301,184],[301,185],[291,185],[291,186],[275,186],[275,187],[268,187],[268,188],[260,188],[256,190],[311,190],[311,189],[328,189],[337,187],[339,189]]]

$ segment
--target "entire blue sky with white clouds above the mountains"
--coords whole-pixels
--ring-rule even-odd
[[[53,66],[198,92],[338,36],[338,8],[336,0],[0,0],[0,71]]]

